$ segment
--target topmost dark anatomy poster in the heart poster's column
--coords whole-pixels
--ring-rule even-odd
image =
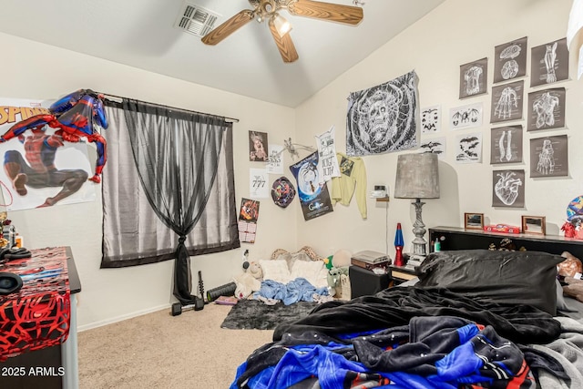
[[[494,83],[527,74],[527,36],[494,48]]]

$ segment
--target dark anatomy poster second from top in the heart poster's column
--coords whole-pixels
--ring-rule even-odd
[[[524,80],[492,87],[490,123],[522,118]]]

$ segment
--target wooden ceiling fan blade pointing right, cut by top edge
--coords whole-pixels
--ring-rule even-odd
[[[363,8],[313,0],[290,0],[287,9],[292,15],[313,17],[332,22],[358,25],[363,20]]]

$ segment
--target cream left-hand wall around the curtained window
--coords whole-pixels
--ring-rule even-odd
[[[0,41],[4,53],[0,61],[0,74],[4,75],[0,97],[55,99],[79,88],[91,88],[171,107],[239,118],[240,122],[233,129],[238,209],[241,197],[249,197],[249,168],[263,166],[249,161],[248,131],[268,132],[270,142],[281,145],[284,138],[295,135],[295,112],[289,107],[201,87],[15,36],[0,34]],[[94,148],[90,146],[90,150]],[[287,165],[292,162],[287,154],[284,162]],[[276,178],[271,176],[271,181]],[[98,185],[96,192],[94,202],[20,210],[8,215],[25,237],[27,248],[71,246],[82,284],[77,311],[80,330],[169,307],[175,301],[171,292],[173,261],[126,269],[99,269],[102,213]],[[250,250],[251,261],[268,257],[277,248],[297,250],[295,213],[299,208],[296,203],[282,210],[271,199],[261,200],[256,243],[241,243],[241,248],[235,251],[192,257],[195,283],[198,271],[202,271],[207,290],[230,282],[232,276],[242,271],[241,258],[245,249]]]

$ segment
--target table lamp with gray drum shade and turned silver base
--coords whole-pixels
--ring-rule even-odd
[[[395,199],[414,199],[413,255],[426,255],[425,225],[421,218],[422,199],[439,199],[439,169],[437,154],[405,154],[397,159],[394,182]]]

